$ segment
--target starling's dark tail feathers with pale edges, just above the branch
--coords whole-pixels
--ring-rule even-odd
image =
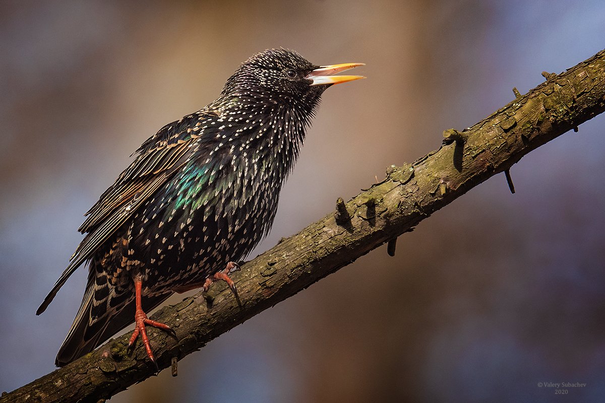
[[[92,273],[94,270],[91,270]],[[119,295],[111,293],[112,296],[108,289],[106,291],[103,289],[103,286],[108,287],[108,285],[106,283],[102,286],[97,285],[95,277],[93,274],[88,279],[82,305],[57,353],[54,362],[57,367],[62,367],[91,352],[103,341],[134,322],[136,308],[134,288],[132,292],[125,290]],[[151,311],[171,294],[172,292],[168,292],[153,297],[143,297],[142,305],[145,311]]]

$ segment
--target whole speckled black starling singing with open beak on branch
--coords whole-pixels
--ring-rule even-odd
[[[38,308],[41,314],[82,263],[88,283],[59,349],[64,366],[132,323],[149,359],[149,312],[174,292],[225,280],[269,232],[281,186],[322,92],[361,76],[362,63],[316,66],[290,50],[242,63],[217,100],[166,124],[85,214],[85,237]],[[133,154],[133,155],[134,155]],[[154,361],[155,363],[155,361]]]

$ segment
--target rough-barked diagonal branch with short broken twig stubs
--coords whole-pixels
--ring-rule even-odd
[[[335,214],[304,228],[242,267],[234,279],[239,307],[224,286],[197,294],[154,315],[178,340],[159,330],[149,338],[160,368],[171,366],[218,335],[296,294],[385,242],[409,231],[434,211],[491,176],[508,170],[531,150],[605,110],[605,51],[546,82],[462,132],[450,129],[439,150],[387,169]],[[449,144],[448,144],[449,143]],[[512,190],[512,189],[511,189]],[[338,221],[338,224],[337,222]],[[394,242],[390,242],[390,250]],[[212,300],[209,303],[207,300]],[[128,335],[4,395],[0,402],[97,402],[155,373],[145,350],[126,351]]]

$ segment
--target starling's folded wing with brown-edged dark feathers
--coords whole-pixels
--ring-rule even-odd
[[[198,128],[208,115],[198,112],[166,124],[135,152],[139,154],[137,158],[85,214],[87,219],[79,230],[87,235],[71,256],[67,269],[44,298],[37,315],[45,311],[68,277],[186,163],[189,146],[199,137]]]

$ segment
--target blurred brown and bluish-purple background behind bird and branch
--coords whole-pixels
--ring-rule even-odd
[[[0,391],[54,369],[82,214],[163,124],[287,47],[365,62],[325,92],[275,245],[605,47],[601,1],[2,1]],[[605,393],[605,116],[112,402],[594,402]],[[171,302],[182,296],[174,297]],[[583,382],[554,396],[538,382]]]

